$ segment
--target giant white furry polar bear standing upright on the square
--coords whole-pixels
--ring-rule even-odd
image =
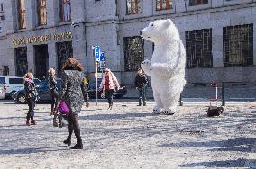
[[[151,61],[144,60],[141,64],[144,72],[151,76],[156,102],[153,113],[174,114],[186,84],[186,50],[178,29],[170,19],[157,20],[144,28],[141,36],[155,44]]]

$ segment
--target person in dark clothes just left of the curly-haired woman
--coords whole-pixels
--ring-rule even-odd
[[[53,117],[53,126],[62,128],[62,115],[58,113],[57,106],[59,102],[59,93],[56,81],[56,72],[53,68],[50,68],[49,71],[49,89],[50,89],[50,97],[51,97],[51,112],[50,115],[54,115]],[[57,122],[57,117],[59,119],[59,125]]]

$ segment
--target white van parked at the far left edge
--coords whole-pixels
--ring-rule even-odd
[[[40,80],[34,78],[35,84],[39,84]],[[23,77],[18,76],[0,76],[0,88],[4,88],[5,97],[14,99],[14,94],[17,91],[23,90]]]

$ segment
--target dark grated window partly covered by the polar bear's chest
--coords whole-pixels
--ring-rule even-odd
[[[137,70],[144,60],[144,41],[142,37],[124,38],[125,71]]]

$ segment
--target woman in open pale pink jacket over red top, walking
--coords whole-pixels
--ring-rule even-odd
[[[102,93],[105,93],[105,97],[108,102],[108,109],[112,109],[113,106],[113,93],[115,89],[119,90],[120,85],[114,76],[114,73],[110,71],[109,68],[105,69],[105,75],[102,78],[99,90],[102,90]]]

